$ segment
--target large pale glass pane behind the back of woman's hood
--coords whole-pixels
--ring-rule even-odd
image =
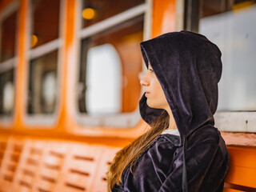
[[[200,19],[199,33],[205,34],[222,50],[218,110],[256,110],[254,18],[255,2],[239,1],[231,5],[231,10]]]

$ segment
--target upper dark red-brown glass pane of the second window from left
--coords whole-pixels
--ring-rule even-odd
[[[31,0],[31,47],[58,38],[59,0]]]

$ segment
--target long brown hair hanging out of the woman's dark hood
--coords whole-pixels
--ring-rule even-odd
[[[153,121],[150,122],[151,129],[142,136],[136,138],[128,146],[120,150],[107,172],[108,191],[114,187],[115,184],[122,182],[122,172],[130,163],[130,171],[134,172],[132,166],[136,163],[139,155],[154,141],[154,139],[169,127],[169,114],[166,110]]]

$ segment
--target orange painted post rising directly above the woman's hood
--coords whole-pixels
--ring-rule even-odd
[[[154,0],[152,38],[175,30],[175,0]]]

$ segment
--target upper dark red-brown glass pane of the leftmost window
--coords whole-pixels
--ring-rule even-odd
[[[16,46],[17,11],[2,21],[0,62],[14,58]]]

